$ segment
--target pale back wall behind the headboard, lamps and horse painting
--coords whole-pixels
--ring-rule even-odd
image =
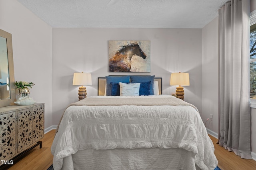
[[[202,33],[201,29],[114,29],[53,28],[53,125],[68,104],[78,100],[78,86],[72,86],[74,72],[91,72],[92,86],[87,96],[97,95],[97,78],[107,75],[155,75],[162,77],[163,94],[176,90],[170,86],[171,72],[188,72],[185,101],[201,111]],[[150,73],[108,72],[108,40],[150,40]]]

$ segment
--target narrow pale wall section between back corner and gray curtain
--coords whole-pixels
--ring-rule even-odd
[[[218,133],[218,17],[202,28],[201,117],[206,128]]]

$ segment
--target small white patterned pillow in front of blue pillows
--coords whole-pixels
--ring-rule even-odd
[[[140,96],[140,83],[121,83],[120,96]]]

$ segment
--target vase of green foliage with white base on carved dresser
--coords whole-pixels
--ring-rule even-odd
[[[29,88],[32,88],[35,84],[32,82],[24,82],[19,81],[15,82],[14,86],[18,88],[18,93],[21,94],[20,98],[18,98],[17,102],[14,102],[17,105],[32,105],[35,104],[36,101],[34,101],[32,98],[29,97],[30,90]]]

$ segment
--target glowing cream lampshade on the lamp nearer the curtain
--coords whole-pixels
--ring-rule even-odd
[[[189,86],[189,74],[186,72],[175,72],[171,74],[170,86]]]

